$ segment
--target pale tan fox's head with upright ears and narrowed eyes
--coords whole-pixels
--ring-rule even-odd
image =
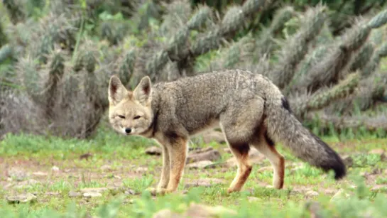
[[[109,81],[109,122],[114,130],[125,135],[141,135],[152,124],[151,79],[141,79],[132,91],[127,90],[119,77]]]

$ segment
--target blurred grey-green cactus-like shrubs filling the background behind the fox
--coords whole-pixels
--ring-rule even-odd
[[[386,1],[3,0],[0,136],[92,136],[128,88],[241,68],[320,134],[386,136]]]

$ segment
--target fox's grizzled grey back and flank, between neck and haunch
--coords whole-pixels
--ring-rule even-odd
[[[227,108],[265,98],[268,90],[273,92],[266,77],[243,70],[204,73],[162,82],[154,88],[160,93],[160,113],[168,114],[165,117],[170,117],[171,125],[183,125],[189,133],[210,127]]]

